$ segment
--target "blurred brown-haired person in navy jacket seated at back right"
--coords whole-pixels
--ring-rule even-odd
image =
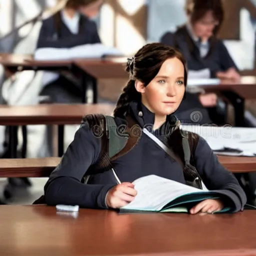
[[[186,0],[185,11],[186,24],[174,33],[165,33],[161,42],[176,47],[183,53],[189,77],[239,80],[235,63],[223,42],[216,37],[223,20],[221,0]],[[214,93],[198,96],[187,93],[187,99],[181,103],[179,111],[199,104],[208,108],[213,122],[221,116],[223,120],[219,124],[225,122],[225,109],[217,107],[217,96]]]

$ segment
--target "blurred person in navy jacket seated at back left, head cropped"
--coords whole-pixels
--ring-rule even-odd
[[[43,20],[37,48],[71,48],[100,43],[96,24],[91,18],[99,12],[103,0],[67,0],[65,7]],[[53,102],[81,102],[81,82],[63,75],[54,78],[46,73],[40,95],[50,96]]]

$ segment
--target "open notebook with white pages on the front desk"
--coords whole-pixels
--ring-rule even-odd
[[[157,175],[140,177],[132,183],[137,195],[120,212],[189,212],[202,200],[224,196],[221,191],[201,190]],[[232,212],[232,209],[227,207],[218,212]]]

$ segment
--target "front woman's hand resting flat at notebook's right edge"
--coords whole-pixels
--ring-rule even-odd
[[[194,207],[190,209],[191,214],[196,214],[198,212],[205,212],[205,213],[213,213],[215,211],[219,211],[223,209],[224,205],[223,202],[219,199],[206,199]]]

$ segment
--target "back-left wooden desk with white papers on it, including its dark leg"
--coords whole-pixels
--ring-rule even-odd
[[[81,76],[82,102],[86,103],[87,90],[93,90],[93,103],[97,102],[98,78],[129,78],[125,72],[125,57],[104,59],[34,60],[31,55],[0,54],[0,64],[9,73],[22,70],[71,71]]]

